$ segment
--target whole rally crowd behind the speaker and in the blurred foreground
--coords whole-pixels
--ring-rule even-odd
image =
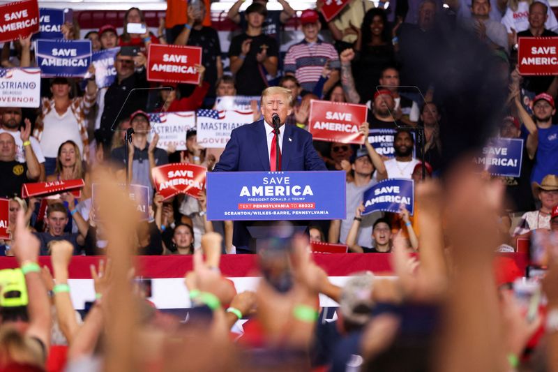
[[[149,27],[129,34],[129,23],[148,26],[142,10],[130,8],[122,34],[121,25],[106,24],[83,35],[94,51],[139,50],[116,54],[110,87],[97,87],[92,65],[83,82],[43,79],[38,110],[0,108],[0,197],[9,198],[11,233],[0,241],[0,255],[15,255],[22,269],[17,282],[27,284],[29,298],[12,307],[0,299],[2,324],[17,325],[17,331],[0,327],[0,367],[44,369],[54,320],[68,345],[68,371],[509,371],[521,363],[558,370],[558,256],[552,250],[558,241],[558,77],[522,76],[516,66],[519,38],[557,36],[548,1],[448,0],[442,6],[409,0],[377,7],[352,0],[326,21],[318,0],[296,16],[301,41],[285,48],[282,29],[296,15],[289,3],[279,0],[282,10],[268,10],[266,0],[255,0],[241,11],[244,0],[238,0],[227,14],[238,24],[228,51],[211,27],[208,3],[190,1],[181,15],[167,15],[156,34]],[[77,22],[65,24],[63,34],[82,38]],[[448,39],[455,45],[447,47]],[[202,47],[199,84],[143,89],[130,99],[133,89],[168,87],[146,78],[151,43]],[[478,55],[481,66],[469,66]],[[460,70],[465,64],[474,70]],[[31,36],[4,43],[1,65],[36,66]],[[472,76],[478,79],[465,85]],[[346,195],[331,197],[345,198],[346,218],[312,221],[308,235],[345,244],[349,253],[392,253],[397,279],[357,273],[341,288],[312,262],[308,236],[271,239],[259,252],[265,280],[255,292],[236,293],[218,269],[220,255],[245,253],[236,251],[232,221],[207,219],[204,191],[168,199],[156,193],[151,170],[159,165],[192,163],[211,172],[227,170],[230,158],[202,147],[195,130],[186,135],[186,150],[159,148],[149,113],[211,109],[218,97],[260,96],[273,86],[283,88],[276,92],[289,102],[285,126],[296,131],[309,130],[312,100],[368,107],[368,122],[359,127],[363,144],[312,142],[312,170],[345,171]],[[262,96],[266,121],[269,100]],[[465,111],[481,119],[457,128],[455,117]],[[128,128],[135,132],[131,143],[123,137]],[[392,131],[393,156],[370,144],[373,130]],[[456,161],[457,149],[479,151],[489,137],[523,140],[518,177],[477,168],[474,152],[462,151]],[[125,173],[130,184],[150,189],[147,221],[128,218],[133,213],[126,215],[128,200],[118,189],[104,194],[105,207],[92,205],[92,184],[123,181]],[[399,213],[363,215],[365,191],[392,178],[414,180],[414,213],[401,206]],[[74,179],[84,180],[79,195],[22,198],[23,184]],[[534,235],[550,255],[543,281],[547,334],[536,346],[531,336],[541,317],[526,320],[505,285],[497,288],[509,281],[496,283],[492,266],[492,253],[516,251],[518,240]],[[416,252],[420,261],[409,255]],[[132,288],[128,258],[134,254],[194,256],[195,269],[186,276],[193,302],[186,325],[146,306]],[[38,255],[51,256],[54,281],[38,267]],[[92,269],[97,301],[83,321],[69,297],[72,255],[110,258],[99,272]],[[340,304],[335,322],[319,317],[319,293]],[[54,318],[44,311],[51,306]],[[249,330],[232,342],[230,329],[246,318]]]

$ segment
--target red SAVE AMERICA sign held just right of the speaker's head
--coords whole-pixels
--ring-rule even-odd
[[[312,100],[308,128],[314,140],[362,144],[359,127],[367,116],[365,105]]]

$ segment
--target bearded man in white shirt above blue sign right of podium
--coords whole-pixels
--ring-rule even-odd
[[[414,166],[418,163],[413,158],[414,139],[409,131],[399,130],[393,137],[395,158],[384,161],[387,178],[412,178]],[[385,179],[383,174],[376,174],[377,180]]]

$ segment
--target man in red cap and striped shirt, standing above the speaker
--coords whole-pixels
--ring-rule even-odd
[[[316,10],[304,10],[301,15],[304,40],[292,45],[285,56],[285,75],[294,75],[305,91],[313,91],[324,65],[333,70],[324,84],[324,93],[339,80],[339,55],[335,47],[318,38],[321,24]]]

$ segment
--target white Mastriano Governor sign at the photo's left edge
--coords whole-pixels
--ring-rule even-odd
[[[0,107],[39,107],[40,68],[0,68]]]

